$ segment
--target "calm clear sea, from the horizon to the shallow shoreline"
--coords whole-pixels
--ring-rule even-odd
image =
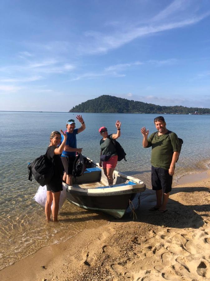
[[[118,163],[116,170],[135,175],[150,188],[150,149],[141,145],[140,129],[155,131],[154,114],[82,114],[86,130],[77,135],[77,146],[83,154],[99,161],[98,128],[106,126],[108,133],[116,132],[115,121],[122,121],[119,142],[126,151],[127,162]],[[180,176],[205,170],[210,164],[210,115],[164,115],[166,127],[184,140],[174,183]],[[38,189],[35,180],[28,180],[27,165],[44,154],[50,133],[65,129],[74,113],[59,112],[0,112],[2,141],[0,147],[0,269],[14,263],[41,247],[59,243],[78,232],[97,228],[110,219],[65,202],[58,224],[46,223],[44,209],[33,196]]]

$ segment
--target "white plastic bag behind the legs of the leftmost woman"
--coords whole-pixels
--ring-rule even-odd
[[[44,186],[39,186],[34,198],[33,198],[38,204],[41,206],[45,207],[45,202],[47,200],[47,187],[46,185]],[[59,210],[62,208],[64,205],[64,202],[66,200],[66,189],[64,188],[61,193],[60,193],[60,200],[59,200]],[[52,203],[53,205],[53,203]],[[52,205],[51,205],[51,210],[52,210]]]

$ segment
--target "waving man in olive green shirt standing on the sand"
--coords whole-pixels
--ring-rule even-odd
[[[156,191],[157,202],[150,210],[158,210],[161,213],[167,211],[169,194],[176,160],[179,156],[179,140],[174,132],[166,129],[166,123],[162,116],[154,119],[157,132],[152,133],[149,138],[149,130],[141,128],[143,135],[143,147],[152,147],[151,154],[151,180],[152,189]],[[163,200],[162,200],[163,198]]]

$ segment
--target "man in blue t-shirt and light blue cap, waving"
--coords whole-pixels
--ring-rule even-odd
[[[61,160],[65,171],[63,180],[67,183],[67,185],[72,185],[72,171],[74,160],[76,157],[76,152],[82,153],[82,148],[77,148],[76,135],[84,131],[85,123],[81,115],[77,115],[76,118],[81,123],[81,127],[75,129],[75,122],[73,119],[69,119],[66,122],[67,141],[64,150],[61,154]],[[63,136],[61,137],[61,141],[63,141]]]

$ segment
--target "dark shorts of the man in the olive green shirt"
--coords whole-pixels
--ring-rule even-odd
[[[155,168],[152,166],[151,181],[153,190],[163,190],[163,193],[171,191],[173,176],[169,175],[169,170]]]

